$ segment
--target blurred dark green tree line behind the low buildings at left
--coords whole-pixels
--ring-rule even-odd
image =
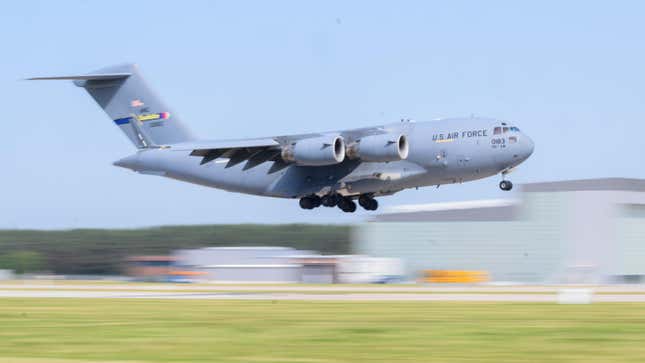
[[[0,269],[18,273],[120,274],[133,255],[209,246],[285,246],[351,253],[350,226],[201,225],[62,231],[0,230]]]

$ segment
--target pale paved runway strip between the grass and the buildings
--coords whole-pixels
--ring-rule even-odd
[[[593,293],[593,302],[645,302],[645,289],[640,286],[569,286],[563,289],[558,286],[0,284],[0,298],[557,302],[563,291]]]

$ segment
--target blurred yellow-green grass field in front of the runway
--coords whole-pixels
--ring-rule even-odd
[[[0,299],[0,362],[642,362],[645,305]]]

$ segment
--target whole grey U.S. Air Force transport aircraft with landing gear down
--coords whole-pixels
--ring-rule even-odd
[[[487,118],[454,118],[301,135],[202,140],[166,106],[136,65],[89,74],[36,77],[72,80],[84,88],[138,151],[114,163],[142,174],[165,176],[231,192],[298,198],[300,207],[376,210],[376,197],[407,188],[505,179],[533,152],[515,124]]]

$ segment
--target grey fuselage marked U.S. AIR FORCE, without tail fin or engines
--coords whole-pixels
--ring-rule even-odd
[[[462,183],[505,173],[526,160],[533,142],[510,123],[463,118],[385,125],[407,135],[409,155],[395,162],[346,159],[329,166],[290,165],[270,172],[271,163],[243,170],[227,159],[200,165],[200,159],[172,145],[145,149],[115,165],[231,192],[299,198],[337,192],[353,196],[388,195],[431,185]]]

